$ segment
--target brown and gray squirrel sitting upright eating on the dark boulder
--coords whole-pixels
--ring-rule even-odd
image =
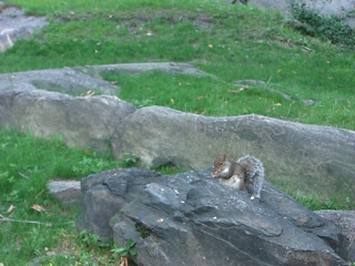
[[[230,162],[225,154],[223,157],[217,155],[212,177],[220,178],[221,184],[239,190],[245,188],[252,195],[252,200],[260,198],[264,166],[260,160],[251,155],[241,157],[237,162]]]

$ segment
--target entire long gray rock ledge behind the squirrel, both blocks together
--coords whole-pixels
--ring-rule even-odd
[[[266,180],[304,193],[355,200],[355,132],[262,115],[207,117],[133,105],[110,95],[70,96],[41,90],[0,90],[0,123],[69,145],[138,155],[142,165],[201,171],[217,153],[258,157]]]

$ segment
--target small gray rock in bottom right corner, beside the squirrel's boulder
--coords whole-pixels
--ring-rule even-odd
[[[332,221],[341,231],[339,255],[355,263],[355,211],[317,211],[317,215]]]

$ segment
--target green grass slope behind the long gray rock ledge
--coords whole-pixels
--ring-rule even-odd
[[[355,129],[355,52],[305,38],[276,14],[215,1],[11,2],[49,16],[51,24],[1,53],[0,72],[193,62],[220,81],[159,73],[106,79],[119,82],[120,98],[128,101],[206,115],[257,113]],[[237,89],[233,81],[244,79],[268,82],[270,88],[317,104],[304,106],[256,89],[230,92]]]

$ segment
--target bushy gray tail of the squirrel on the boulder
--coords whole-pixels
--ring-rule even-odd
[[[264,183],[263,163],[251,155],[237,160],[237,163],[245,170],[245,187],[254,196],[260,198]]]

